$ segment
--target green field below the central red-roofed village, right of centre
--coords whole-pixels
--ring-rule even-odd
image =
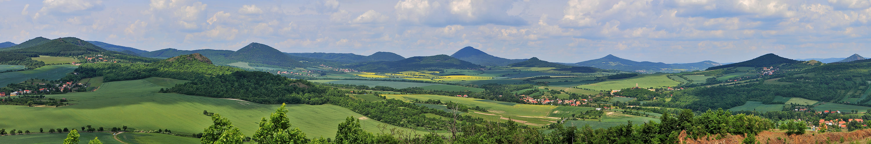
[[[602,116],[602,121],[598,120],[578,120],[578,121],[565,121],[565,126],[576,126],[577,128],[583,128],[584,125],[590,125],[591,128],[611,128],[619,125],[626,125],[626,121],[632,121],[632,124],[644,124],[645,122],[650,121],[659,121],[657,118],[653,117],[645,117],[638,115],[625,115],[611,112],[610,115]],[[607,113],[606,113],[607,114]]]

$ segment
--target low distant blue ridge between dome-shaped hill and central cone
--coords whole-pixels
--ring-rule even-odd
[[[396,55],[391,52],[376,52],[370,56],[361,56],[351,53],[287,53],[290,56],[301,56],[307,58],[318,58],[335,62],[375,62],[375,61],[399,61],[405,57]]]

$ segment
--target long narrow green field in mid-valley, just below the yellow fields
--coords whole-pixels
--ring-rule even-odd
[[[310,82],[366,85],[369,87],[375,87],[375,86],[384,86],[384,87],[390,87],[390,88],[418,87],[418,88],[429,89],[429,90],[447,90],[447,91],[469,90],[469,91],[474,91],[474,92],[484,91],[483,88],[468,88],[468,87],[463,87],[463,86],[438,84],[438,83],[421,83],[421,82],[387,82],[387,81],[361,81],[361,80],[312,80]]]

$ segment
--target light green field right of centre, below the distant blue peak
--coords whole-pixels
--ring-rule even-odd
[[[619,80],[608,80],[604,82],[592,83],[592,84],[584,84],[577,86],[578,88],[591,88],[596,90],[611,90],[611,89],[622,89],[622,88],[632,88],[635,87],[635,84],[638,83],[638,87],[640,88],[651,88],[651,87],[674,87],[680,84],[680,82],[669,79],[665,75],[670,74],[652,74],[652,75],[638,75],[631,78],[619,79]]]

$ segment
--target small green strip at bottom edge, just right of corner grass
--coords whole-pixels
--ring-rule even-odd
[[[250,136],[250,135],[246,135]],[[118,139],[128,144],[174,144],[174,143],[199,143],[199,139],[184,136],[158,133],[121,133]],[[102,140],[101,140],[102,141]],[[112,139],[111,141],[115,141]],[[81,142],[80,142],[81,143]]]

